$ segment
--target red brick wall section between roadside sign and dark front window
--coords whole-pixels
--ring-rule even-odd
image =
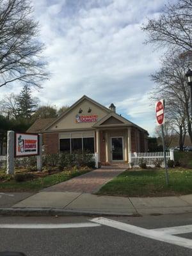
[[[44,133],[43,144],[45,147],[45,154],[56,154],[59,152],[59,134],[58,133]]]

